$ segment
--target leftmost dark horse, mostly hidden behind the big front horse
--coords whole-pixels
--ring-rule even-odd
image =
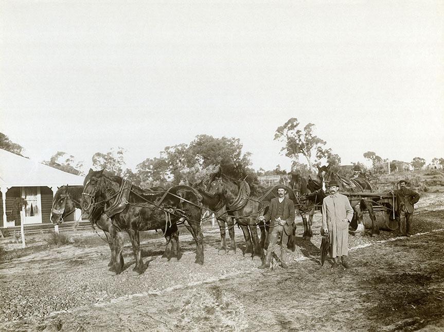
[[[73,214],[76,208],[81,208],[83,186],[61,186],[57,189],[54,198],[52,199],[51,209],[51,223],[53,225],[60,225],[67,216]],[[111,260],[108,266],[113,266],[115,263],[114,251],[112,246],[112,238],[110,229],[112,228],[111,219],[103,213],[103,205],[98,205],[90,215],[91,225],[96,225],[105,233],[106,240],[111,250]],[[123,265],[123,257],[120,255],[119,261]]]

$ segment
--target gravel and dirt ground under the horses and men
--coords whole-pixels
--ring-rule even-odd
[[[319,215],[312,241],[298,238],[288,270],[258,270],[260,261],[243,257],[240,248],[219,256],[218,232],[205,233],[204,266],[193,263],[196,247],[188,235],[181,236],[180,261],[159,259],[163,239],[145,241],[149,266],[140,276],[129,274],[128,242],[127,269],[119,276],[106,275],[106,245],[13,259],[0,266],[0,329],[442,330],[443,198],[420,201],[415,236],[350,236],[346,271],[319,264]]]

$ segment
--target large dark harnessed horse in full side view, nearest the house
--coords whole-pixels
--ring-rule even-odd
[[[85,213],[91,213],[94,206],[101,202],[114,226],[110,234],[116,257],[123,249],[121,241],[116,240],[116,232],[126,231],[130,236],[136,260],[133,269],[135,274],[145,271],[140,250],[140,231],[163,230],[167,240],[164,257],[180,259],[182,254],[177,223],[184,223],[196,241],[196,263],[204,263],[200,226],[201,196],[193,188],[175,186],[161,192],[144,191],[121,177],[104,174],[103,170],[90,169],[84,180],[82,209]],[[112,274],[119,274],[121,270],[122,265],[119,263],[110,268]]]

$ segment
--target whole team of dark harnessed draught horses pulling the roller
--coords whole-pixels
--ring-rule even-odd
[[[365,180],[342,178],[329,166],[318,167],[317,179],[303,177],[299,172],[293,173],[290,183],[285,186],[286,194],[303,219],[303,237],[306,240],[313,236],[313,214],[316,209],[320,209],[322,200],[327,195],[326,184],[332,179],[342,181],[342,188],[345,190],[356,193],[371,190],[370,184]],[[127,232],[131,240],[135,257],[135,265],[131,272],[133,274],[141,274],[146,269],[140,249],[141,231],[161,230],[166,239],[162,258],[181,258],[179,225],[184,225],[196,242],[195,263],[204,264],[201,224],[202,217],[208,213],[214,214],[220,227],[221,254],[236,252],[234,227],[237,224],[245,239],[244,253],[251,253],[252,259],[263,259],[264,249],[268,247],[269,225],[258,221],[258,217],[267,213],[271,199],[276,197],[275,189],[274,185],[257,185],[252,190],[245,180],[230,178],[219,168],[206,185],[199,183],[192,186],[179,185],[168,189],[155,187],[144,190],[104,170],[90,169],[83,186],[58,188],[52,203],[51,222],[60,224],[76,208],[81,208],[93,228],[102,230],[106,236],[111,250],[108,273],[112,275],[123,270],[123,240],[119,236],[120,232]],[[363,231],[364,209],[368,210],[372,221],[375,219],[371,202],[359,195],[350,197],[358,220],[358,231]],[[376,222],[372,233],[379,232],[375,225]],[[228,248],[225,241],[226,229],[230,238]]]

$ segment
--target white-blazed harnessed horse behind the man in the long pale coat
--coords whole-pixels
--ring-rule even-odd
[[[363,178],[348,179],[339,174],[339,168],[328,166],[318,167],[318,177],[322,180],[322,190],[327,192],[326,186],[329,181],[338,181],[340,191],[348,193],[348,200],[354,210],[354,216],[358,223],[355,234],[362,235],[364,233],[363,213],[367,209],[371,219],[371,235],[379,234],[379,226],[376,221],[375,212],[373,211],[373,200],[365,195],[353,193],[370,193],[372,191],[370,183]]]

